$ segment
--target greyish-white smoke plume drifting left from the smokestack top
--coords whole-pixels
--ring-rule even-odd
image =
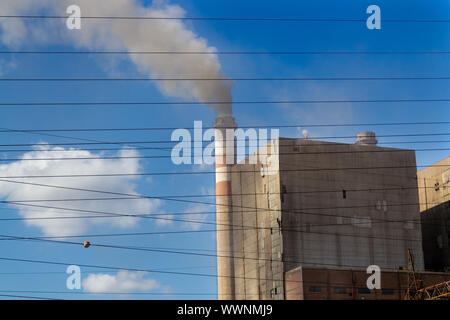
[[[184,17],[184,10],[166,1],[144,7],[137,0],[19,0],[0,1],[3,15],[67,16],[76,4],[83,16]],[[226,102],[212,105],[219,115],[231,114],[231,83],[222,71],[214,47],[188,30],[182,20],[82,19],[81,30],[69,30],[65,19],[0,18],[1,41],[12,48],[36,45],[72,45],[105,51],[194,51],[211,54],[130,54],[138,70],[150,78],[215,78],[220,81],[158,81],[168,96]],[[228,104],[228,102],[230,104]]]

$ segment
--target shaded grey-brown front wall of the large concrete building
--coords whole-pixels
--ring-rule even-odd
[[[414,151],[281,139],[285,271],[398,269],[407,266],[408,248],[423,270],[415,165]],[[339,168],[346,169],[329,170]]]

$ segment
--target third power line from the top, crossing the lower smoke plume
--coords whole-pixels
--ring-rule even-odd
[[[397,81],[397,80],[450,80],[446,76],[434,77],[263,77],[263,78],[0,78],[0,82],[99,82],[99,81]]]

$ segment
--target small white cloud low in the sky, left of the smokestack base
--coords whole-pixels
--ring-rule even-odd
[[[83,290],[90,293],[129,293],[138,291],[167,291],[154,279],[144,278],[148,272],[119,270],[117,274],[92,273],[82,282]]]

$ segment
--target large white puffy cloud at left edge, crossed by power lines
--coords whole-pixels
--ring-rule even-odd
[[[122,149],[118,156],[133,157],[138,153],[133,149]],[[21,160],[0,165],[0,176],[47,176],[47,175],[98,175],[110,173],[139,173],[139,161],[136,158],[121,159],[83,159],[83,160],[26,160],[37,158],[92,158],[93,154],[86,150],[50,148],[40,146],[34,151],[22,155]],[[64,186],[78,189],[102,190],[108,192],[138,195],[136,192],[137,176],[115,177],[80,177],[80,178],[45,178],[45,179],[9,179],[24,182],[42,183],[47,185]],[[121,197],[102,193],[92,193],[70,189],[51,188],[27,184],[17,184],[0,181],[0,198],[14,200],[49,200],[49,199],[92,199],[92,198]],[[63,207],[91,211],[113,212],[119,214],[148,214],[154,212],[160,205],[155,199],[138,200],[88,200],[63,202],[33,202],[40,206]],[[27,207],[11,204],[19,210],[25,218],[58,217],[58,216],[89,216],[101,215],[65,211],[61,209]],[[133,227],[138,219],[133,217],[90,218],[90,219],[54,219],[54,220],[26,220],[27,225],[35,226],[45,235],[58,236],[79,234],[93,225],[112,225],[121,228]]]

